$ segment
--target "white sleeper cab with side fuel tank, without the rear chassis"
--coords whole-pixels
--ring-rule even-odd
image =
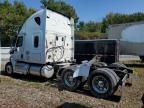
[[[52,77],[54,64],[74,60],[74,20],[48,9],[34,13],[23,24],[10,53],[7,73]]]

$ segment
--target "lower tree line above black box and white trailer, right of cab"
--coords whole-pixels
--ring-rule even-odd
[[[144,13],[137,12],[133,14],[120,14],[120,13],[109,13],[106,15],[102,22],[89,21],[79,22],[78,30],[76,32],[77,38],[80,39],[97,39],[97,38],[106,38],[106,29],[109,25],[113,24],[122,24],[144,21]]]

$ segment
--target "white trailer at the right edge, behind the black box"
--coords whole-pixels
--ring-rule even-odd
[[[107,29],[109,39],[120,40],[120,53],[144,60],[144,21],[114,24]]]

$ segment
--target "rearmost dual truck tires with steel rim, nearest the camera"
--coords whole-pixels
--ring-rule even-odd
[[[107,98],[117,90],[118,80],[113,70],[100,68],[90,73],[88,85],[91,93],[97,98]]]

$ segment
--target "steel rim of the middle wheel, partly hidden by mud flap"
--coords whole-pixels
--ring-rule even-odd
[[[67,86],[73,87],[76,83],[76,79],[73,78],[73,73],[66,72],[64,75],[64,82]]]

